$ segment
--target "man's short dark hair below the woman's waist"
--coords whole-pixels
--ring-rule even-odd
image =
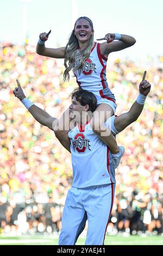
[[[78,87],[73,90],[71,99],[73,99],[73,97],[76,97],[77,101],[79,101],[82,106],[89,105],[89,111],[95,111],[97,107],[97,99],[93,93]]]

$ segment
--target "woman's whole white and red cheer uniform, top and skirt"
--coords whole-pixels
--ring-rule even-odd
[[[82,69],[74,72],[78,86],[95,94],[97,105],[105,103],[116,109],[115,96],[108,87],[106,80],[107,58],[103,56],[99,48],[100,44],[95,42],[89,58],[84,62]]]

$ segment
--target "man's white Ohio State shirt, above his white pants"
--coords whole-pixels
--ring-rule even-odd
[[[84,188],[116,182],[110,150],[93,133],[90,124],[78,124],[68,132],[68,137],[71,140],[72,186]]]

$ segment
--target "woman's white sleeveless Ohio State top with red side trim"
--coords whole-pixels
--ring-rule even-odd
[[[95,42],[90,56],[85,60],[82,69],[74,72],[78,85],[89,92],[97,92],[108,88],[106,81],[106,62],[108,59],[101,54],[99,46],[100,44]],[[114,95],[113,99],[115,99]]]

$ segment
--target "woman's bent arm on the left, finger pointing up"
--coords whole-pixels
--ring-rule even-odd
[[[45,41],[48,40],[48,36],[51,33],[51,30],[46,33],[41,33],[39,37],[39,41],[37,42],[36,46],[36,53],[46,56],[46,57],[52,57],[52,58],[65,58],[65,47],[60,48],[47,48],[45,47]]]

